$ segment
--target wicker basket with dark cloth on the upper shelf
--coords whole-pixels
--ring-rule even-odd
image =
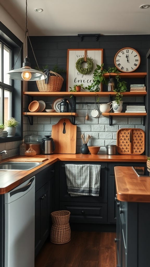
[[[56,76],[49,76],[48,84],[45,84],[45,80],[36,81],[40,92],[60,92],[64,79],[56,72],[50,70],[50,73]]]

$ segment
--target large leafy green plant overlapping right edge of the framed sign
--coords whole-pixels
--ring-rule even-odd
[[[97,68],[93,72],[93,83],[91,85],[88,85],[88,87],[85,87],[85,89],[88,89],[90,92],[99,92],[100,91],[100,84],[107,84],[107,81],[104,77],[105,73],[108,73],[106,69],[103,69],[104,63],[100,65],[97,65]]]

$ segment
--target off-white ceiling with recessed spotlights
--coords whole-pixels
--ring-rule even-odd
[[[22,30],[26,0],[0,0]],[[150,34],[150,0],[27,0],[29,36]],[[43,9],[37,13],[35,8]]]

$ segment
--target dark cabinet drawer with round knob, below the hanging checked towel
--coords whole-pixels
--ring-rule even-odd
[[[70,211],[69,222],[107,222],[107,204],[60,202],[60,210]]]

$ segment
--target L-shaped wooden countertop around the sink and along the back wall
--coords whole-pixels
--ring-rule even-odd
[[[25,158],[25,156],[14,156],[4,159],[2,162],[10,161],[11,159]],[[146,162],[145,155],[83,155],[83,154],[53,154],[53,155],[36,155],[36,158],[48,158],[41,165],[29,171],[6,171],[0,170],[0,194],[5,194],[25,182],[39,171],[44,170],[58,160],[61,161],[91,161],[91,162]],[[34,157],[32,157],[34,158]],[[2,163],[1,162],[1,163]]]

